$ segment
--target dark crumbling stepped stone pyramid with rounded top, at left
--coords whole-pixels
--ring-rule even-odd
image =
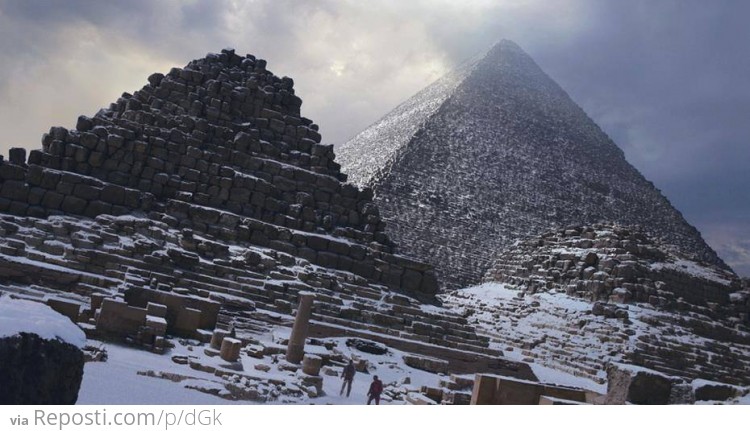
[[[0,162],[0,290],[157,352],[171,336],[231,331],[212,347],[229,359],[291,326],[313,292],[312,337],[533,378],[462,316],[425,307],[433,269],[394,254],[372,191],[345,182],[300,106],[292,79],[223,50],[151,75],[75,129],[51,128],[28,157],[12,149]]]

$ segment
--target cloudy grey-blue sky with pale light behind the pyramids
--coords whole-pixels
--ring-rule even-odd
[[[750,275],[750,2],[0,0],[0,153],[234,47],[341,143],[502,38]]]

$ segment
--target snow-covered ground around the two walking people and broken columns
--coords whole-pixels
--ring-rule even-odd
[[[283,329],[281,335],[283,336]],[[279,332],[273,334],[278,337]],[[270,336],[270,334],[269,334]],[[106,362],[90,362],[84,369],[83,383],[79,393],[78,404],[234,404],[254,403],[256,401],[231,401],[217,395],[211,395],[195,388],[204,390],[215,389],[220,394],[226,394],[224,385],[226,380],[211,373],[198,371],[188,365],[176,364],[172,361],[173,356],[198,356],[203,365],[214,366],[219,369],[229,367],[230,364],[218,357],[206,357],[201,352],[208,347],[206,344],[196,346],[185,346],[175,343],[175,347],[168,350],[164,355],[135,348],[97,341],[90,342],[91,345],[101,346],[106,349],[108,359]],[[306,393],[300,396],[278,395],[271,399],[271,404],[364,404],[367,401],[367,390],[372,376],[377,375],[383,380],[386,387],[385,395],[381,402],[383,404],[403,404],[403,400],[389,399],[387,393],[395,390],[405,394],[407,391],[418,391],[422,385],[437,386],[440,376],[426,371],[408,367],[403,363],[403,352],[389,349],[385,355],[374,355],[360,352],[346,346],[346,338],[323,339],[321,341],[335,343],[335,349],[341,351],[346,357],[352,354],[366,359],[370,364],[367,373],[358,372],[354,378],[351,396],[339,396],[342,380],[340,376],[329,376],[321,372],[323,377],[324,394],[318,397],[310,397]],[[323,346],[308,345],[308,353],[321,353],[325,350]],[[272,356],[262,359],[247,355],[241,356],[242,371],[237,373],[245,376],[248,380],[263,381],[269,391],[279,391],[279,386],[292,387],[294,382],[302,375],[300,371],[284,371],[278,369],[278,363],[274,363]],[[268,371],[255,368],[256,365],[267,365]],[[340,366],[331,367],[336,371]],[[231,369],[231,368],[227,368]],[[170,373],[187,377],[186,379],[173,382],[163,378],[139,375],[141,372],[153,371],[154,374]],[[402,384],[405,377],[411,380],[411,384]],[[268,383],[268,381],[271,383]],[[276,383],[274,383],[276,382]],[[281,383],[281,384],[279,384]]]

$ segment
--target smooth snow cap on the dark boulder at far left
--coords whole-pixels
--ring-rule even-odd
[[[0,297],[0,338],[22,332],[37,334],[46,340],[59,340],[78,348],[86,344],[86,335],[70,319],[38,302]]]

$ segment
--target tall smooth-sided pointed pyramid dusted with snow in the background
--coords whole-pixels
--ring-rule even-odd
[[[515,43],[502,41],[337,149],[375,192],[399,251],[445,287],[476,283],[493,254],[573,224],[643,229],[727,268],[612,140]]]

